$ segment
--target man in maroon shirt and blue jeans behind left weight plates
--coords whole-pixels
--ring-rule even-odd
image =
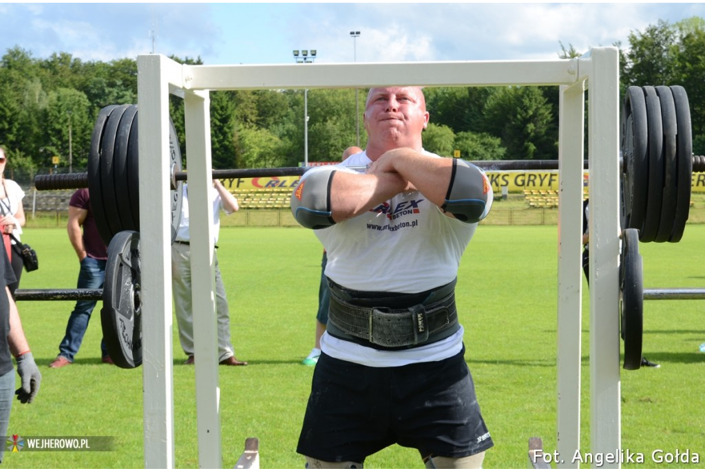
[[[78,256],[78,289],[100,289],[105,282],[105,265],[108,260],[108,248],[100,237],[90,206],[87,188],[76,190],[68,201],[68,222],[66,224],[68,240]],[[49,368],[63,368],[71,365],[78,354],[83,336],[88,328],[91,314],[97,301],[76,301],[71,315],[68,316],[66,334],[59,344],[59,356],[49,364]],[[113,364],[105,341],[100,342],[101,361]]]

